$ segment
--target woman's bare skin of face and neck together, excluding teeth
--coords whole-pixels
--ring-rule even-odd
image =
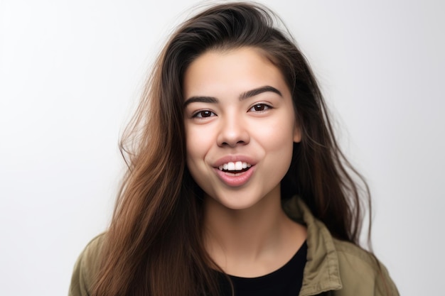
[[[289,87],[260,50],[208,51],[183,83],[187,165],[205,192],[205,246],[226,273],[254,277],[289,261],[306,229],[281,207],[279,184],[301,140]],[[241,161],[246,171],[222,172]]]

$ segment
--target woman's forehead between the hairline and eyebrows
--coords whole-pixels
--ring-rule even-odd
[[[210,50],[186,70],[183,94],[187,97],[218,93],[239,95],[247,89],[270,85],[289,92],[282,72],[257,48]]]

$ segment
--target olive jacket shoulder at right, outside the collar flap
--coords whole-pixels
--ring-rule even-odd
[[[353,243],[333,239],[342,289],[337,295],[399,295],[385,265]]]

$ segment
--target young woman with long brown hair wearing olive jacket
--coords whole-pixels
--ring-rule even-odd
[[[358,246],[360,175],[275,21],[221,4],[168,40],[122,143],[112,223],[70,295],[398,295]]]

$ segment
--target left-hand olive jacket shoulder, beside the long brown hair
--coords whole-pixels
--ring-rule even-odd
[[[91,287],[100,268],[100,254],[105,234],[100,234],[87,244],[74,266],[69,296],[91,295]]]

